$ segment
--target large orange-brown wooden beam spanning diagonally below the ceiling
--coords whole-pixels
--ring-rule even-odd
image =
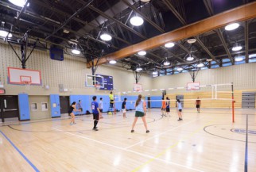
[[[144,40],[138,44],[133,44],[129,47],[122,48],[117,52],[104,55],[99,64],[107,63],[107,59],[122,59],[129,55],[133,55],[142,50],[157,48],[168,42],[176,42],[185,38],[199,35],[200,33],[208,32],[214,29],[222,28],[232,22],[246,21],[256,17],[256,2],[251,2],[244,6],[239,6],[233,10],[228,10],[224,13],[208,17],[202,21],[198,21],[191,25],[186,25],[182,28],[171,32],[166,32],[159,36],[154,36],[148,40]],[[87,67],[90,67],[91,62],[87,62]]]

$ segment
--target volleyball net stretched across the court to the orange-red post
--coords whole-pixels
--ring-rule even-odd
[[[138,94],[142,94],[145,102],[150,102],[150,108],[161,108],[162,97],[166,100],[169,97],[170,107],[176,107],[176,100],[179,99],[183,107],[195,108],[195,101],[200,99],[201,108],[229,108],[232,110],[232,122],[235,122],[235,98],[233,83],[224,84],[188,84],[187,86],[169,87],[152,90],[128,90],[115,93],[115,102],[123,101],[134,104]],[[173,102],[173,103],[172,103]],[[149,103],[147,103],[149,105]]]

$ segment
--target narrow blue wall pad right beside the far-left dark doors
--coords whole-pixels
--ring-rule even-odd
[[[30,120],[28,94],[18,94],[18,108],[19,108],[20,120]]]

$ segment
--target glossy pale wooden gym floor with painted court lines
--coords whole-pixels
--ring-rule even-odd
[[[256,169],[256,111],[236,109],[184,109],[183,121],[161,117],[149,109],[149,134],[142,120],[130,133],[134,111],[103,115],[99,132],[92,117],[68,117],[17,122],[0,127],[1,171],[243,171],[246,114],[248,114],[248,171]]]

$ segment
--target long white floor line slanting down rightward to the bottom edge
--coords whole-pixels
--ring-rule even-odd
[[[60,130],[58,128],[52,128],[52,129],[55,129],[59,132],[64,132],[63,130]],[[186,169],[189,169],[189,170],[194,170],[194,171],[199,171],[199,172],[203,172],[203,170],[197,170],[195,168],[192,168],[190,166],[184,166],[184,165],[181,165],[179,163],[176,163],[176,162],[169,162],[169,161],[166,161],[165,159],[159,159],[159,158],[156,158],[156,157],[153,157],[151,155],[146,155],[146,154],[142,154],[142,153],[139,153],[137,151],[131,151],[131,150],[128,150],[126,148],[123,148],[123,147],[117,147],[117,146],[114,146],[113,144],[110,144],[110,143],[104,143],[104,142],[101,142],[99,140],[93,140],[93,139],[90,139],[88,137],[85,137],[85,136],[80,136],[80,135],[76,135],[76,134],[73,134],[72,132],[64,132],[65,134],[68,134],[68,135],[71,135],[71,136],[77,136],[77,137],[80,137],[82,139],[85,139],[85,140],[90,140],[90,141],[93,141],[95,143],[100,143],[100,144],[103,144],[103,145],[106,145],[106,146],[109,146],[109,147],[114,147],[116,149],[119,149],[119,150],[122,150],[122,151],[127,151],[127,152],[130,152],[130,153],[134,153],[136,155],[141,155],[145,158],[149,158],[149,159],[154,159],[154,160],[157,160],[157,161],[161,161],[161,162],[165,162],[165,163],[168,163],[168,164],[172,164],[172,165],[176,165],[176,166],[180,166],[180,167],[183,167],[183,168],[186,168]]]

